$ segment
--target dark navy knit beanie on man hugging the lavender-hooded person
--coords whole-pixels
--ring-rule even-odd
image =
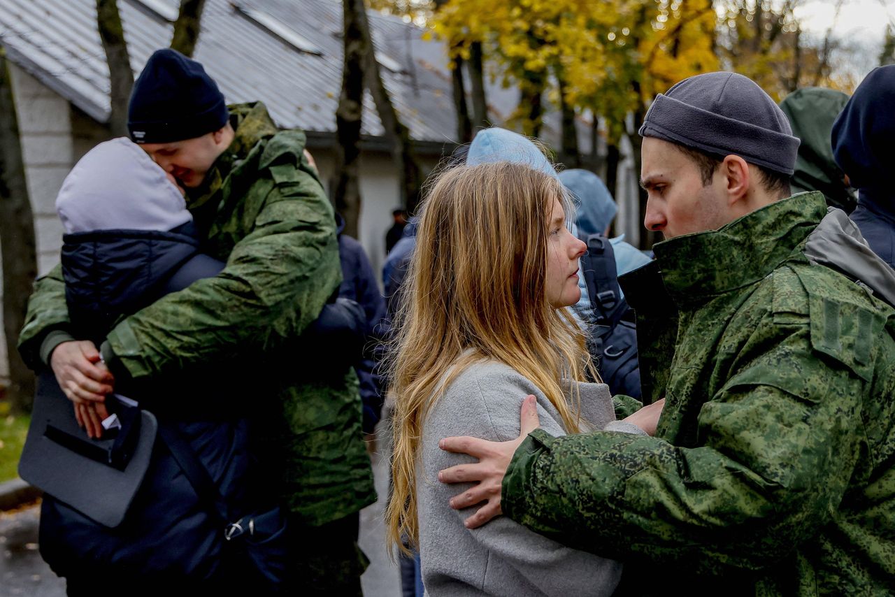
[[[133,83],[127,128],[136,143],[170,143],[217,131],[228,117],[224,94],[202,65],[165,48]]]

